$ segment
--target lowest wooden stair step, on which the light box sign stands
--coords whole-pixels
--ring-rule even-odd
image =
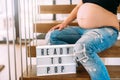
[[[107,65],[106,66],[111,80],[120,80],[120,66],[116,65]],[[28,74],[27,72],[23,73],[23,79],[21,77],[19,80],[90,80],[88,73],[85,71],[83,67],[77,68],[76,74],[64,74],[64,75],[52,75],[52,76],[37,76],[36,75],[36,66],[32,66]]]

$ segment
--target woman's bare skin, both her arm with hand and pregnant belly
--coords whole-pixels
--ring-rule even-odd
[[[52,27],[50,30],[62,30],[75,19],[77,19],[80,27],[86,29],[103,26],[113,26],[119,29],[119,22],[115,14],[93,3],[83,4],[80,0],[70,15],[61,24]]]

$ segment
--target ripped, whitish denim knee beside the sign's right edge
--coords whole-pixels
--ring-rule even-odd
[[[76,61],[86,63],[91,58],[90,56],[96,54],[96,51],[91,44],[79,42],[74,45],[74,54]]]

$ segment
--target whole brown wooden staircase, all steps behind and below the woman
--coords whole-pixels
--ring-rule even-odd
[[[75,5],[41,5],[38,7],[40,14],[68,14],[75,7]],[[120,12],[120,7],[118,9]],[[61,23],[62,21],[56,20],[41,20],[39,22],[35,22],[34,32],[36,33],[46,33],[51,27],[56,24]],[[77,22],[73,21],[70,25],[77,26]],[[36,57],[36,46],[37,45],[45,45],[45,40],[33,40],[28,44],[28,57]],[[30,52],[29,52],[30,50]],[[120,40],[116,42],[114,46],[111,48],[99,53],[101,58],[120,58]],[[111,80],[120,80],[120,65],[106,65]],[[36,65],[32,65],[29,67],[28,73],[25,71],[23,73],[23,78],[19,78],[20,80],[90,80],[88,73],[85,69],[80,66],[77,67],[76,74],[65,74],[65,75],[53,75],[53,76],[42,76],[39,77],[36,75]]]

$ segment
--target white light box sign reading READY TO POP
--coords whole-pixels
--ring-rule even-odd
[[[73,45],[45,45],[36,47],[37,76],[76,73]]]

